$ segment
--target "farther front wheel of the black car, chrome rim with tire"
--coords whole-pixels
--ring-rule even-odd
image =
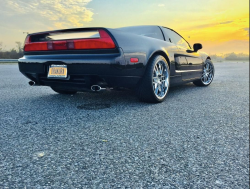
[[[202,76],[199,80],[194,81],[193,83],[197,86],[208,86],[212,83],[214,79],[214,65],[211,60],[207,59],[204,65]]]

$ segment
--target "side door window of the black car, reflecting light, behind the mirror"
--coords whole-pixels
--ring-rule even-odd
[[[163,31],[166,35],[166,40],[169,40],[170,42],[184,49],[190,49],[189,44],[180,35],[167,28],[164,28]]]

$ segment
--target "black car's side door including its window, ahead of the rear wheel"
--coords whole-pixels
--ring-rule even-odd
[[[176,73],[181,73],[182,80],[199,78],[202,72],[202,59],[199,53],[192,52],[189,43],[174,30],[164,28],[164,33],[170,42],[178,47],[178,52],[175,54]]]

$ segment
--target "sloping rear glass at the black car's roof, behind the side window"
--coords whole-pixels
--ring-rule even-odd
[[[133,26],[117,29],[136,35],[142,35],[146,37],[164,40],[161,29],[158,26]]]

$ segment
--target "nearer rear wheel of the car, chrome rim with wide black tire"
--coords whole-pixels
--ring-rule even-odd
[[[137,96],[141,101],[159,103],[167,96],[170,85],[170,71],[163,56],[155,56],[149,63],[139,83]]]

